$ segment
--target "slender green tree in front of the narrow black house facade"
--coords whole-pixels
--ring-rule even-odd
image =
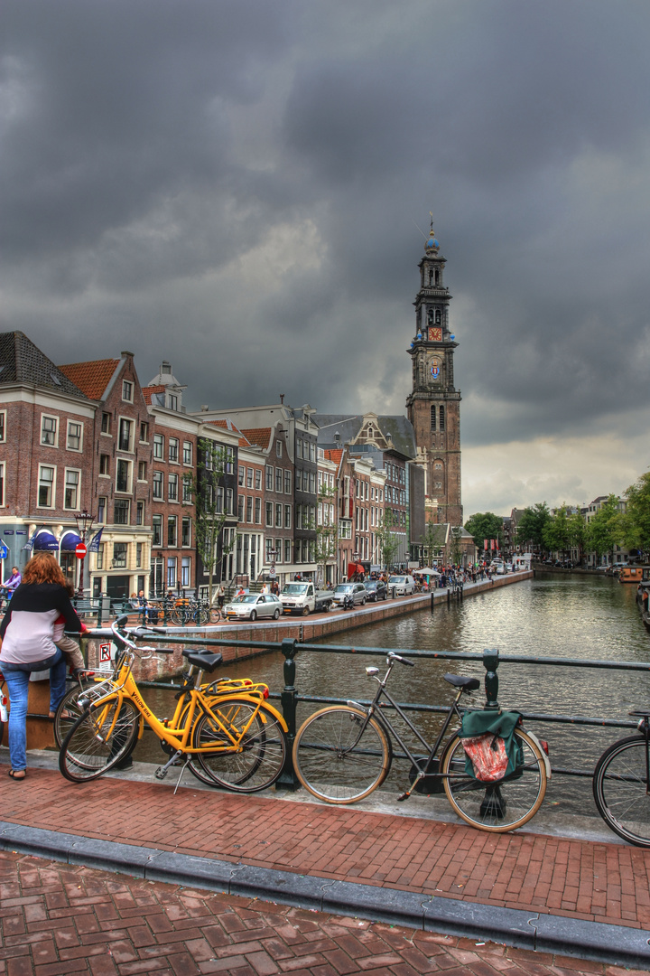
[[[196,474],[186,474],[183,480],[183,504],[194,505],[194,535],[196,549],[208,574],[210,605],[213,599],[212,580],[216,564],[232,551],[237,534],[228,544],[223,542],[223,528],[232,513],[225,507],[223,474],[230,458],[225,448],[208,437],[200,437],[197,443]],[[220,545],[219,545],[220,544]],[[220,548],[220,551],[219,551]]]

